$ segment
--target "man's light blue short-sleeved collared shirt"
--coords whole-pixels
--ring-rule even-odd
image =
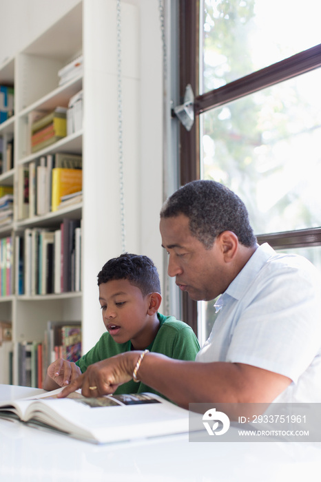
[[[303,401],[304,390],[321,401],[320,300],[321,276],[308,260],[262,244],[217,300],[219,315],[196,361],[280,373],[293,381],[282,401]]]

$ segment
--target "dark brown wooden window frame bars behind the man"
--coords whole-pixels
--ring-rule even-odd
[[[190,84],[194,92],[194,125],[187,131],[180,125],[180,185],[200,179],[200,114],[289,78],[321,67],[321,44],[287,59],[252,72],[236,81],[200,94],[200,1],[179,1],[180,98]],[[269,242],[273,249],[321,246],[321,227],[257,235],[258,243]],[[198,305],[187,293],[182,298],[183,319],[198,332]]]

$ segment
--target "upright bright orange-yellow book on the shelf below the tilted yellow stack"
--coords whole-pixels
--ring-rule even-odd
[[[82,169],[52,169],[52,211],[56,211],[61,203],[61,197],[83,189]]]

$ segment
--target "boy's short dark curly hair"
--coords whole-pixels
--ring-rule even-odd
[[[128,280],[141,290],[143,296],[161,293],[158,271],[150,258],[145,255],[123,253],[104,264],[98,273],[98,286],[112,280]]]

